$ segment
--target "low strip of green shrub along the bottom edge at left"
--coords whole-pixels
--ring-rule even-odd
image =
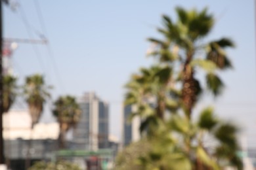
[[[81,170],[81,168],[70,161],[46,162],[38,161],[28,170]]]

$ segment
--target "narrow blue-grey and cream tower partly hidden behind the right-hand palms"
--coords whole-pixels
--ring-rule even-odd
[[[131,120],[132,112],[135,112],[136,108],[132,105],[123,107],[122,118],[122,143],[123,146],[140,139],[140,118],[136,116]]]

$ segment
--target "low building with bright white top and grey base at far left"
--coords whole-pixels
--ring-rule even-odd
[[[28,111],[12,110],[3,114],[5,156],[13,170],[25,169],[28,153],[31,163],[38,160],[49,161],[58,149],[58,123],[39,123],[31,129],[31,122]]]

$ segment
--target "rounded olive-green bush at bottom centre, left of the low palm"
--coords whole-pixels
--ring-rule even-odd
[[[117,155],[115,169],[192,169],[186,155],[175,147],[174,141],[165,136],[158,135],[161,140],[142,139],[127,146]]]

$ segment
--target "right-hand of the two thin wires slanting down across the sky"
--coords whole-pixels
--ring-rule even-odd
[[[46,26],[45,26],[45,22],[43,20],[43,14],[41,12],[41,7],[40,7],[40,4],[37,0],[34,0],[34,5],[35,5],[35,9],[37,11],[37,16],[39,18],[39,23],[41,25],[41,30],[43,31],[43,33],[45,34],[45,36],[47,38],[48,37],[48,33],[47,33],[47,29],[46,29]],[[53,48],[51,47],[51,44],[50,42],[47,43],[47,50],[48,50],[48,53],[49,53],[49,56],[51,57],[51,59],[53,60],[53,62],[51,62],[53,64],[53,68],[54,68],[54,73],[56,75],[56,77],[58,78],[58,84],[60,86],[60,88],[62,88],[62,91],[66,92],[65,90],[65,87],[64,87],[64,84],[62,82],[62,78],[60,76],[60,73],[58,71],[58,66],[56,64],[56,59],[54,57],[54,54],[53,54]]]

